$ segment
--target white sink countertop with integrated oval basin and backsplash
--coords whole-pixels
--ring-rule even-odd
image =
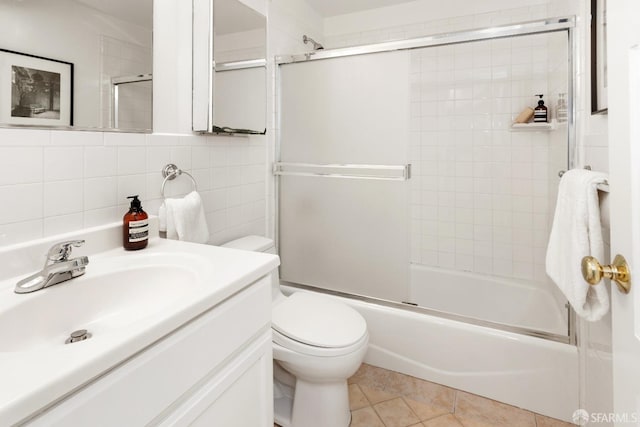
[[[0,248],[0,425],[55,404],[279,264],[269,254],[160,238],[128,252],[121,233],[111,224]],[[52,244],[72,239],[86,241],[71,254],[88,256],[83,276],[14,293],[42,268]],[[91,337],[65,344],[79,329]]]

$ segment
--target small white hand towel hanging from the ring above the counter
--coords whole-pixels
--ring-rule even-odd
[[[202,199],[196,191],[182,199],[165,199],[167,239],[207,243],[209,228]]]

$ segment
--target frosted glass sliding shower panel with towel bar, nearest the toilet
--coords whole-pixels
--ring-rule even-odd
[[[408,295],[407,52],[281,66],[284,281]]]

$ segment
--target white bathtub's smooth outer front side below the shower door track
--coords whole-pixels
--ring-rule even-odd
[[[286,283],[282,289],[314,292]],[[429,315],[402,304],[329,295],[366,319],[366,363],[568,422],[579,408],[573,345]]]

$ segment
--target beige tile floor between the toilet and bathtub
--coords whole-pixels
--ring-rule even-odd
[[[572,427],[524,409],[363,364],[349,378],[350,427]]]

